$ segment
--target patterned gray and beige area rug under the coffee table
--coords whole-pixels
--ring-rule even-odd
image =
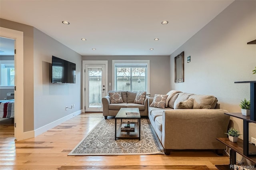
[[[117,124],[119,127],[120,119],[117,120]],[[115,119],[102,119],[68,155],[164,154],[164,149],[148,119],[141,119],[140,134],[140,140],[115,140]]]

